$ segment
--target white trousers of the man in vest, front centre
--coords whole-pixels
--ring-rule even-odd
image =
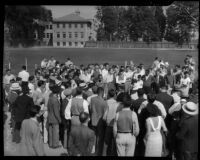
[[[118,156],[134,156],[136,138],[131,133],[117,133],[116,146]]]

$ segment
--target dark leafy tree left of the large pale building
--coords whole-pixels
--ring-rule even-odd
[[[42,6],[5,6],[5,22],[13,45],[32,45],[34,32],[44,30],[42,22],[50,20],[51,11]]]

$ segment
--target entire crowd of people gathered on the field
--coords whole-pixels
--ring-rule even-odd
[[[4,102],[21,155],[198,157],[198,76],[192,56],[173,67],[43,59],[35,74],[6,70]]]

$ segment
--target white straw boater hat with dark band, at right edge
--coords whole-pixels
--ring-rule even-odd
[[[198,114],[198,106],[194,102],[187,102],[182,106],[182,109],[185,113],[189,115],[196,115]]]

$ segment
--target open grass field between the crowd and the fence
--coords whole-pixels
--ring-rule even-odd
[[[143,63],[146,67],[152,64],[154,58],[168,61],[169,64],[184,64],[185,56],[192,55],[198,64],[198,50],[159,50],[159,49],[99,49],[99,48],[27,48],[7,49],[4,54],[4,71],[7,68],[8,59],[14,74],[21,70],[28,61],[28,71],[33,74],[35,64],[40,65],[43,58],[54,56],[59,62],[65,62],[67,57],[76,64],[105,63],[124,65],[127,60],[135,64]],[[9,57],[9,58],[8,58]]]

